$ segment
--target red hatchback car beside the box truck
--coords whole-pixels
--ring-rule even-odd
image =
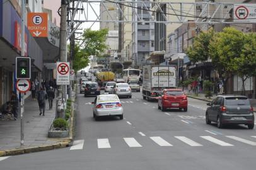
[[[187,111],[187,96],[181,89],[164,89],[158,98],[158,109],[172,108]]]

